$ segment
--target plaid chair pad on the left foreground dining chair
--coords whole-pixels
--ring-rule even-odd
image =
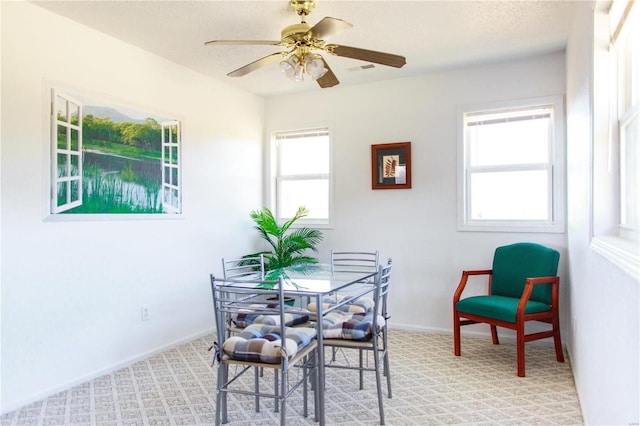
[[[313,328],[286,327],[285,330],[287,337],[283,348],[280,327],[251,324],[237,335],[225,340],[222,344],[222,352],[229,358],[239,361],[279,364],[283,353],[291,359],[316,337],[316,330]]]

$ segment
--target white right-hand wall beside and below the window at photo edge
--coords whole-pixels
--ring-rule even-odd
[[[592,2],[577,9],[567,47],[569,346],[587,424],[640,420],[640,283],[589,248],[592,236]],[[598,142],[596,142],[598,143]]]

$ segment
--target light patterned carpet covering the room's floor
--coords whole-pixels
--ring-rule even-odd
[[[528,345],[527,377],[519,378],[514,344],[463,337],[462,356],[455,357],[451,336],[390,330],[389,339],[388,425],[583,424],[569,362],[556,362],[552,347]],[[216,369],[207,352],[212,341],[213,336],[194,340],[7,413],[2,426],[213,424]],[[365,373],[360,391],[356,371],[326,371],[327,424],[378,424],[374,374]],[[229,421],[279,423],[272,401],[263,399],[261,408],[256,413],[251,397],[231,395]],[[316,424],[313,408],[308,418],[301,413],[299,390],[288,401],[288,424]]]

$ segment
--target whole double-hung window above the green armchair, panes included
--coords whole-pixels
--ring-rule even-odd
[[[460,110],[458,228],[563,232],[561,97]]]

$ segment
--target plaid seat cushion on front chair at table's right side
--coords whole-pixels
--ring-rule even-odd
[[[384,317],[378,315],[378,330],[385,327]],[[322,319],[322,336],[325,339],[369,340],[373,336],[372,313],[344,313],[333,311]]]

